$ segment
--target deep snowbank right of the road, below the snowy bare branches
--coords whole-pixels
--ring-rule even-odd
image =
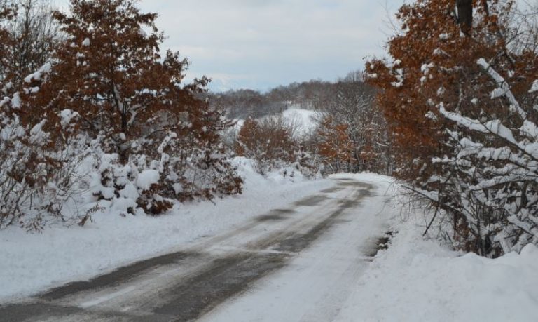
[[[394,224],[399,234],[361,277],[338,321],[536,321],[536,246],[496,260],[463,255],[422,239],[423,224],[423,215]]]

